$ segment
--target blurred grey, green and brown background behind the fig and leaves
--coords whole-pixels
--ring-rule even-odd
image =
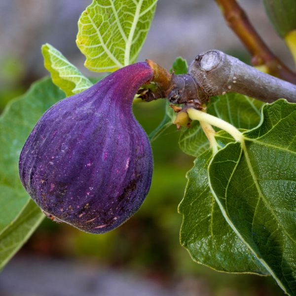
[[[0,1],[0,112],[7,102],[47,75],[40,46],[59,49],[82,73],[75,45],[77,20],[91,0]],[[261,1],[241,0],[260,35],[287,65],[285,44],[273,31]],[[216,3],[159,0],[139,60],[171,68],[177,56],[188,62],[220,49],[249,63],[250,56],[227,28]],[[164,102],[137,104],[147,132],[161,121]],[[153,144],[154,174],[143,206],[128,222],[104,235],[86,234],[45,219],[0,273],[0,296],[248,296],[283,295],[269,277],[216,272],[194,263],[179,243],[177,213],[193,158],[178,147],[175,127]]]

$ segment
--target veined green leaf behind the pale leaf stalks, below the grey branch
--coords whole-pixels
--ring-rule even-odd
[[[250,129],[258,125],[262,106],[262,102],[250,97],[227,93],[212,97],[207,111],[237,128]],[[208,139],[197,121],[189,128],[182,128],[179,145],[186,154],[193,156],[198,156],[209,148]]]

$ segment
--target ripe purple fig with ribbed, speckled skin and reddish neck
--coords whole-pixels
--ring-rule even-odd
[[[104,233],[140,208],[153,160],[132,103],[152,77],[146,62],[127,66],[39,119],[22,149],[19,173],[48,217]]]

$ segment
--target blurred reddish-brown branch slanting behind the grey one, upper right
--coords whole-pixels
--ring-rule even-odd
[[[254,66],[265,65],[268,73],[296,84],[296,74],[286,67],[267,47],[236,0],[215,0],[227,25],[252,54]]]

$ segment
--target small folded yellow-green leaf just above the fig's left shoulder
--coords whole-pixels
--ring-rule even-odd
[[[60,51],[46,43],[42,45],[44,66],[50,72],[52,81],[67,96],[88,89],[93,84]]]

